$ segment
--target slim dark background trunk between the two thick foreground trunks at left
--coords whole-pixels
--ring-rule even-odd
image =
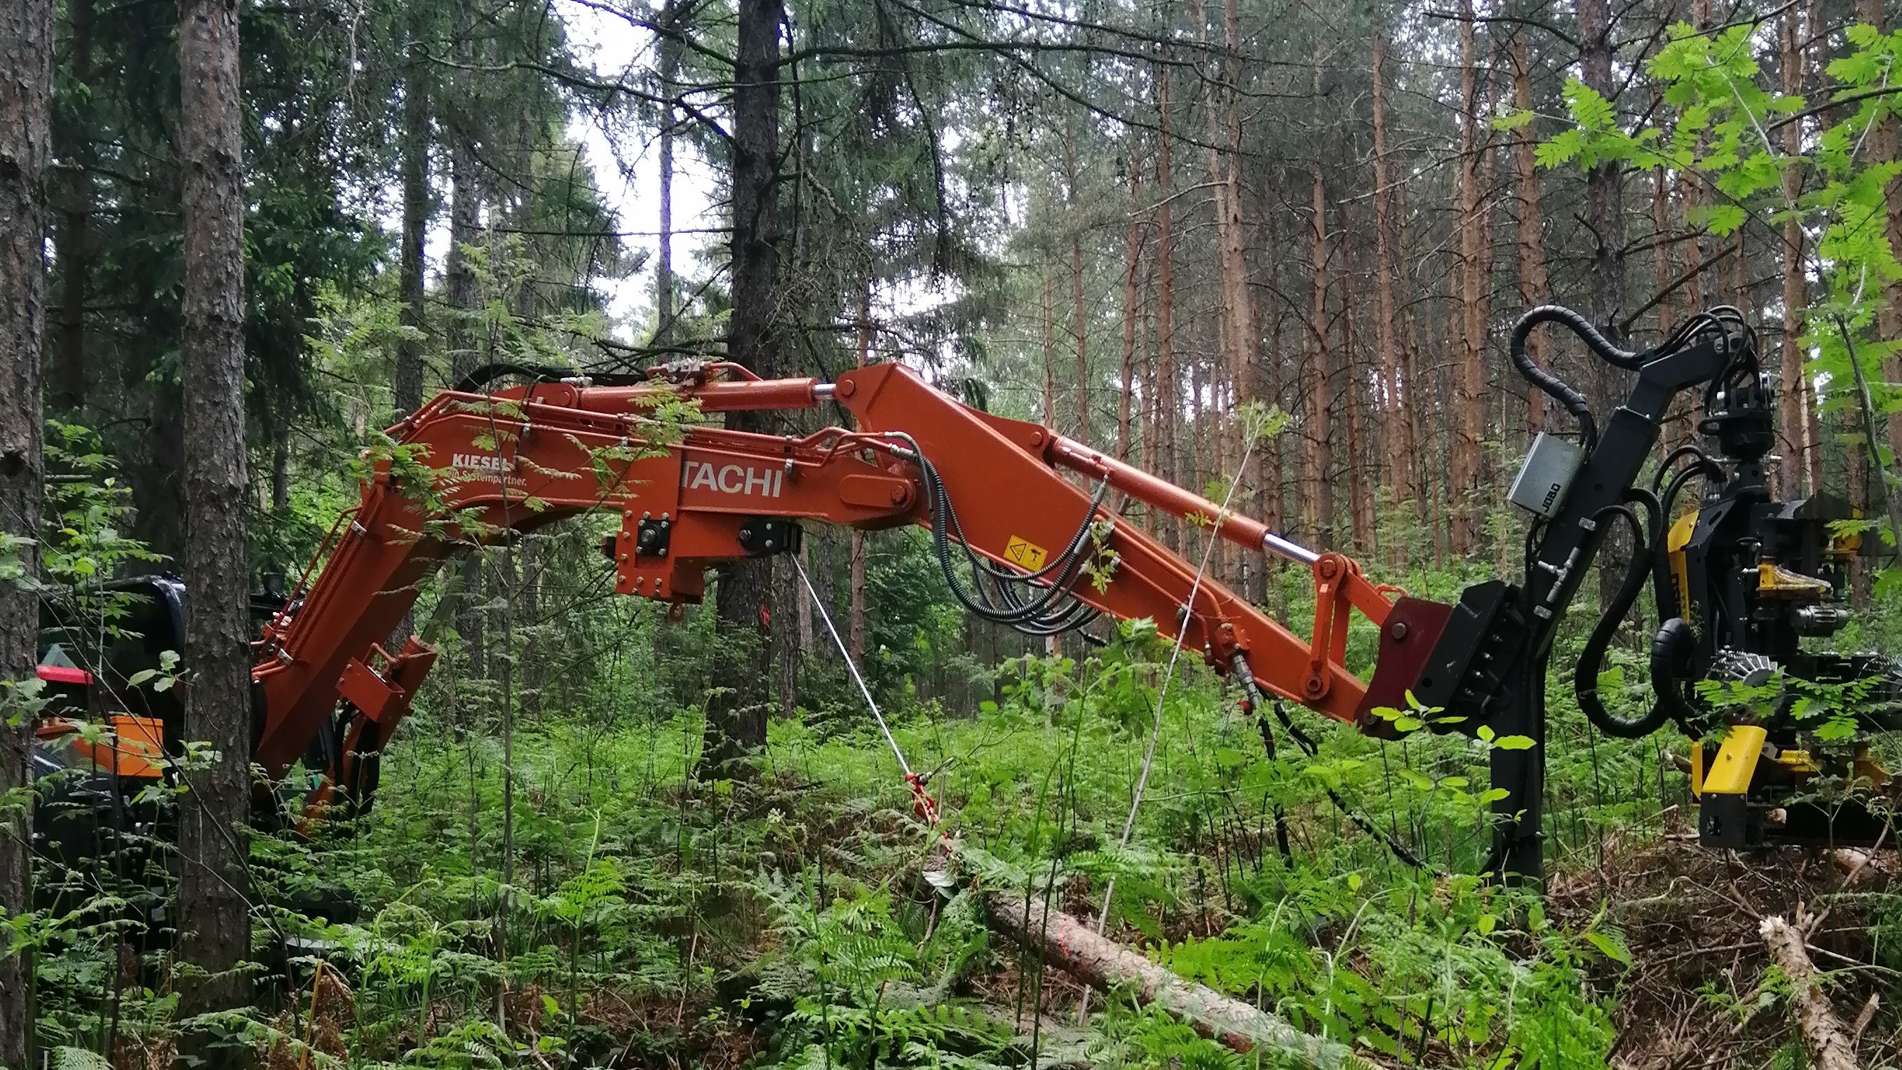
[[[72,21],[70,65],[72,82],[91,87],[93,80],[93,0],[68,0]],[[86,407],[86,283],[91,274],[91,251],[86,230],[93,215],[93,146],[91,95],[76,93],[72,114],[61,124],[61,141],[68,144],[61,156],[67,165],[67,205],[53,238],[59,257],[59,405],[78,412]]]

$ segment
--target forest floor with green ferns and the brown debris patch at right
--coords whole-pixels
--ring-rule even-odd
[[[1381,1066],[1805,1066],[1757,935],[1773,914],[1805,926],[1862,1064],[1902,1059],[1892,853],[1700,850],[1657,743],[1588,739],[1560,709],[1541,899],[1461,876],[1487,836],[1470,739],[1309,722],[1318,753],[1282,739],[1271,762],[1200,675],[1158,726],[1132,665],[1033,659],[968,717],[900,705],[894,739],[955,838],[949,888],[924,878],[941,840],[890,743],[852,713],[774,720],[751,777],[696,781],[694,711],[544,709],[514,726],[512,793],[495,732],[422,713],[356,829],[259,844],[264,965],[285,981],[242,1036],[272,1070],[1286,1064],[1128,988],[1084,1013],[1084,986],[991,931],[978,893],[1092,924],[1113,884],[1109,937]],[[299,910],[325,895],[356,916]],[[82,965],[42,981],[70,1038],[53,1043],[103,1034]],[[169,998],[122,996],[116,1066],[165,1060]]]

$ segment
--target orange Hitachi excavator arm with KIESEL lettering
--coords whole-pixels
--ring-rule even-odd
[[[833,399],[856,430],[780,437],[689,426],[666,441],[652,412],[670,393],[702,412]],[[340,760],[329,774],[352,796],[373,791],[375,753],[436,659],[415,637],[396,652],[384,646],[430,568],[472,544],[588,511],[620,513],[609,547],[616,589],[675,604],[700,601],[709,566],[795,549],[797,521],[922,525],[961,599],[981,591],[961,585],[953,551],[974,555],[978,587],[1014,587],[1000,618],[1052,629],[1096,612],[1149,618],[1219,671],[1246,669],[1263,692],[1369,730],[1381,724],[1375,705],[1404,701],[1444,625],[1444,606],[1394,601],[1347,557],[1307,551],[1050,428],[961,405],[900,365],[856,369],[835,384],[708,365],[677,384],[445,392],[390,437],[405,460],[377,464],[359,504],[266,625],[253,667],[264,713],[257,760],[283,774],[333,732]],[[1309,566],[1309,639],[1116,517],[1109,494]],[[1354,612],[1381,625],[1371,686],[1345,665]]]

